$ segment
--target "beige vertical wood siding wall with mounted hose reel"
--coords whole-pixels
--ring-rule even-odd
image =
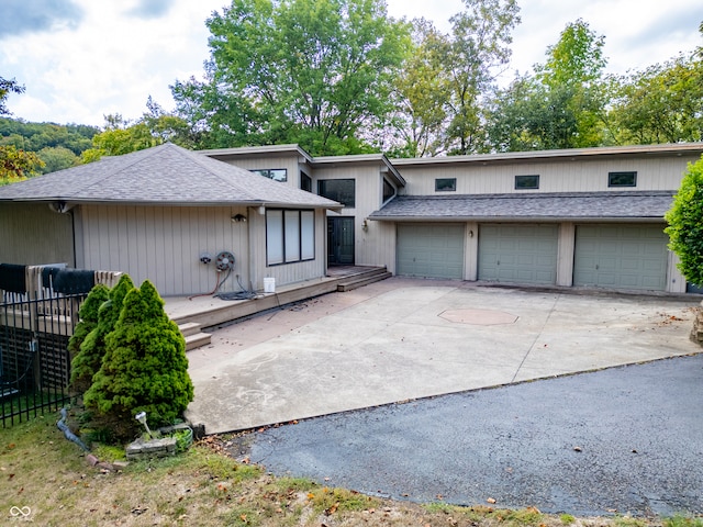
[[[248,223],[234,223],[244,208],[83,206],[82,267],[126,272],[138,285],[150,280],[159,293],[207,293],[217,281],[214,258],[235,255],[233,276],[221,291],[237,291],[234,274],[248,281]],[[201,253],[213,258],[200,261]],[[223,277],[221,277],[223,278]]]

